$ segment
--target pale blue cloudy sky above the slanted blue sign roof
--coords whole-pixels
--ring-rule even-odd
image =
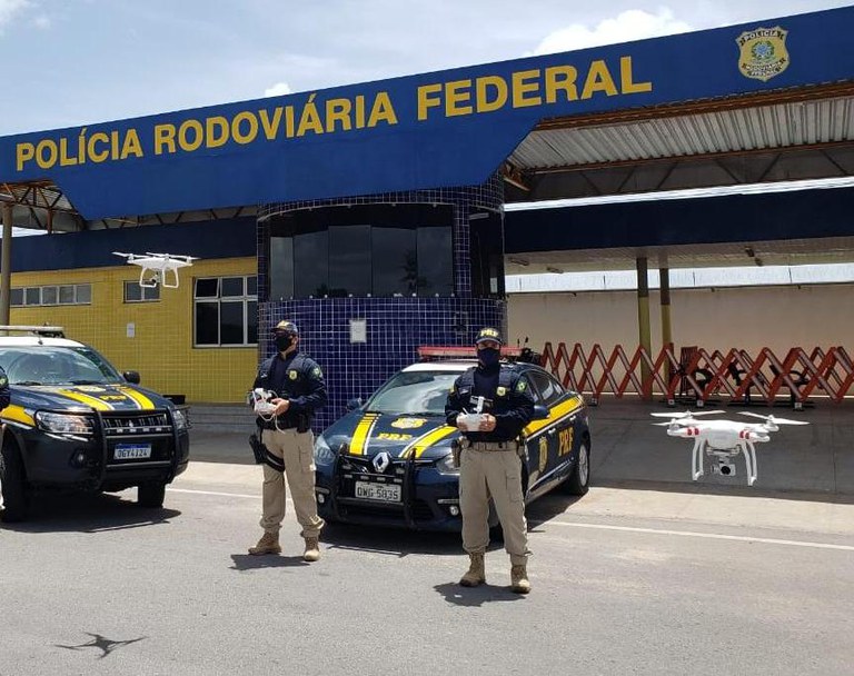
[[[0,0],[0,136],[569,51],[828,0]]]

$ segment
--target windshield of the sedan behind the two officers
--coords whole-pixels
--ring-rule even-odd
[[[445,401],[459,371],[400,371],[368,400],[380,414],[445,415]]]

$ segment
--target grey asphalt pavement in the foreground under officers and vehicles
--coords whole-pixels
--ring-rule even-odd
[[[854,506],[594,486],[528,508],[534,589],[464,589],[456,535],[328,527],[251,557],[260,469],[191,464],[162,510],[51,496],[0,528],[0,675],[850,675]]]

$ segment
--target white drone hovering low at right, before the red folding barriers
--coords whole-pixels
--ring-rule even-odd
[[[671,418],[669,422],[653,422],[667,428],[667,435],[682,439],[694,439],[692,449],[691,475],[696,481],[703,476],[703,449],[706,455],[717,458],[713,466],[715,474],[735,476],[735,465],[732,463],[738,454],[744,456],[747,469],[747,485],[753,486],[758,468],[756,467],[755,444],[771,440],[768,433],[777,431],[781,425],[810,425],[804,420],[788,420],[763,416],[746,410],[738,411],[743,416],[761,418],[762,422],[741,422],[738,420],[698,420],[701,416],[722,414],[722,410],[704,410],[699,412],[666,412],[651,414],[657,418]]]

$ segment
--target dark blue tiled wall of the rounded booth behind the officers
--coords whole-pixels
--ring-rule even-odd
[[[349,399],[370,395],[391,374],[417,360],[417,348],[470,346],[483,326],[506,332],[506,305],[496,298],[471,297],[469,215],[499,211],[502,181],[483,186],[394,192],[328,201],[267,205],[259,209],[258,295],[267,298],[267,217],[299,209],[321,209],[364,203],[444,203],[454,206],[454,294],[410,298],[307,298],[259,302],[259,358],[272,354],[270,328],[281,319],[297,324],[300,349],[315,358],[326,374],[329,405],[319,412],[320,430],[345,411]],[[350,341],[350,320],[364,319],[366,342]]]

